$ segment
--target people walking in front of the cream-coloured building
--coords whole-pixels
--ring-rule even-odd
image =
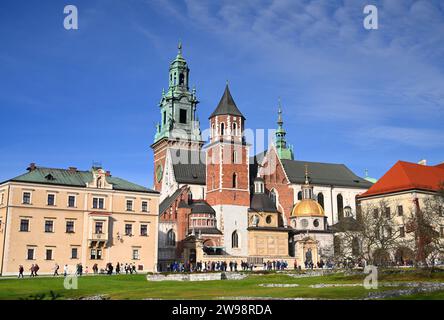
[[[38,276],[37,272],[39,271],[39,269],[40,269],[40,267],[38,266],[38,264],[32,264],[31,268],[29,269],[31,271],[30,277],[37,277]],[[122,269],[125,272],[125,274],[137,273],[136,265],[134,263],[125,263],[123,265],[123,264],[120,264],[119,262],[117,262],[116,267],[115,267],[115,274],[121,274]],[[58,263],[54,264],[54,267],[52,270],[53,270],[54,277],[59,276],[60,266]],[[105,273],[108,275],[111,275],[111,274],[113,274],[114,266],[111,262],[109,262],[106,264],[105,269],[99,269],[98,264],[95,263],[92,267],[92,271],[95,275],[96,274],[105,274]],[[19,265],[18,278],[24,278],[24,272],[25,272],[24,266]],[[83,274],[88,274],[88,273],[89,273],[88,266],[83,268],[83,265],[81,263],[78,263],[75,265],[74,274],[76,276],[82,276]],[[63,276],[66,277],[69,274],[71,274],[71,269],[67,264],[65,264],[63,266]]]

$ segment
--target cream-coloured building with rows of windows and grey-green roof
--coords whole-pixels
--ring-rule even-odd
[[[85,271],[134,264],[157,268],[159,194],[101,168],[36,167],[0,184],[0,273],[59,273],[67,264]]]

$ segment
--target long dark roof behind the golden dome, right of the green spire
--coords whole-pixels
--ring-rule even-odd
[[[355,175],[343,164],[310,161],[281,160],[291,183],[305,182],[305,165],[308,166],[310,183],[341,187],[370,188],[373,184]]]

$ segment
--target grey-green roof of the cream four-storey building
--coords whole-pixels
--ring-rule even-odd
[[[86,188],[87,183],[93,181],[93,173],[92,171],[33,167],[29,172],[8,181]],[[106,181],[113,185],[113,190],[158,193],[118,177],[107,176]]]

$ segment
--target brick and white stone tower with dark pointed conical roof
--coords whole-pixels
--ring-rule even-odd
[[[248,254],[249,145],[245,117],[231,96],[228,84],[210,118],[206,151],[206,200],[216,211],[228,254]]]

